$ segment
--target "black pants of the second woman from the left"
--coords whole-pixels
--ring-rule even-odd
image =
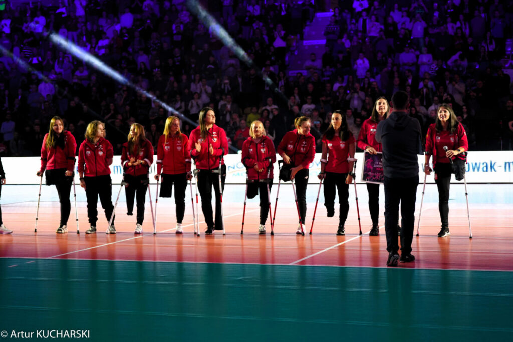
[[[112,180],[110,175],[97,176],[97,177],[84,177],[86,183],[86,197],[87,197],[87,217],[89,224],[96,226],[98,220],[98,196],[100,196],[100,203],[105,211],[105,218],[107,222],[112,216],[114,206],[112,205]],[[114,224],[114,218],[112,219]]]

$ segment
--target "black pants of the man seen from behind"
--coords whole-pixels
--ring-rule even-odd
[[[419,175],[411,178],[388,178],[385,176],[385,232],[386,250],[397,253],[397,225],[399,223],[399,203],[401,203],[401,251],[411,253],[413,226],[415,225],[415,201]]]

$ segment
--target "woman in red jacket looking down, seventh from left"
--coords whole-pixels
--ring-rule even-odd
[[[298,197],[301,224],[305,224],[306,215],[306,186],[308,184],[308,167],[315,157],[315,138],[310,134],[310,118],[297,117],[294,120],[295,129],[285,133],[278,145],[278,154],[285,164],[291,165],[290,179],[294,179],[295,193]],[[301,224],[298,224],[296,234],[303,234]]]

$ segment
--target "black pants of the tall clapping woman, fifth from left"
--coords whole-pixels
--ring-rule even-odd
[[[223,219],[221,217],[221,193],[219,191],[219,173],[213,170],[199,170],[198,172],[198,190],[201,195],[201,209],[208,228],[223,230]],[[221,187],[224,191],[226,180],[226,165],[221,167]],[[215,224],[212,218],[212,187],[215,193]]]

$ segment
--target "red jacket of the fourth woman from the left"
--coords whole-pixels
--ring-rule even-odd
[[[191,156],[187,150],[189,138],[184,133],[179,137],[163,134],[157,143],[157,174],[180,174],[191,170]]]

